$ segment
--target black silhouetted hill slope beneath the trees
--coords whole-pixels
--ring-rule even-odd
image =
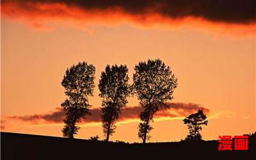
[[[1,132],[1,159],[245,159],[255,156],[255,145],[253,140],[249,150],[220,152],[218,141],[143,145]]]

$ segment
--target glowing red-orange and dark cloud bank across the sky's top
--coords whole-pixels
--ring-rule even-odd
[[[65,1],[5,0],[3,17],[22,20],[39,29],[50,29],[48,22],[86,24],[129,23],[141,27],[201,28],[218,33],[253,35],[254,1]],[[243,7],[241,7],[243,6]]]

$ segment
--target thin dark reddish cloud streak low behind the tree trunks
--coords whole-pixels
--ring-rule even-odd
[[[204,109],[205,113],[209,113],[209,109],[203,108],[198,104],[184,104],[184,103],[168,103],[170,110],[162,110],[156,113],[155,117],[177,117],[177,116],[188,116],[191,113],[195,113],[198,109]],[[124,109],[122,115],[118,119],[119,121],[125,121],[128,119],[138,118],[142,108],[140,106],[128,107]],[[90,122],[101,122],[101,110],[100,108],[94,108],[91,110],[92,115],[86,116],[82,121],[86,123]],[[25,116],[9,116],[10,119],[21,120],[24,122],[39,123],[43,120],[46,123],[58,123],[63,122],[65,114],[60,108],[45,115],[25,115]]]

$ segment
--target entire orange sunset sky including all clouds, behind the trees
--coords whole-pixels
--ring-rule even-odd
[[[79,61],[125,64],[160,58],[178,78],[170,111],[158,113],[150,141],[179,141],[184,116],[209,118],[204,140],[256,131],[255,2],[1,1],[1,131],[62,136],[61,80]],[[96,87],[92,116],[76,138],[104,138]],[[110,140],[138,139],[139,102],[130,97]],[[94,115],[94,116],[93,116]]]

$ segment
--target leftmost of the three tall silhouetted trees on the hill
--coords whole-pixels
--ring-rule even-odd
[[[67,68],[66,74],[61,82],[65,88],[67,99],[61,103],[65,111],[65,126],[62,129],[63,136],[74,138],[79,127],[77,122],[85,115],[90,115],[90,104],[88,96],[93,95],[95,67],[86,62],[72,65]]]

